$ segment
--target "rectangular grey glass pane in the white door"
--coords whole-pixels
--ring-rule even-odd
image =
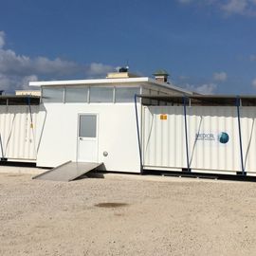
[[[80,116],[79,137],[96,137],[97,116]]]

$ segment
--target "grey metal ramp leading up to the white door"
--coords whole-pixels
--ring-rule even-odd
[[[68,161],[47,171],[46,173],[34,176],[33,179],[71,181],[80,177],[82,174],[86,174],[94,170],[95,168],[101,166],[101,164],[102,163]]]

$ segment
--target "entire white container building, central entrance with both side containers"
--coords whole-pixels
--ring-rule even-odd
[[[29,102],[0,106],[2,158],[38,167],[102,162],[102,171],[125,173],[256,175],[256,97],[202,96],[155,75],[30,82],[40,102],[20,96]]]

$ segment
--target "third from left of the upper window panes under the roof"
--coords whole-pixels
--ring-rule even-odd
[[[113,102],[113,87],[90,87],[90,102]]]

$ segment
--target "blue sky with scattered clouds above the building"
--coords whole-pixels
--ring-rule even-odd
[[[214,94],[256,94],[256,0],[0,0],[0,86],[118,66]]]

